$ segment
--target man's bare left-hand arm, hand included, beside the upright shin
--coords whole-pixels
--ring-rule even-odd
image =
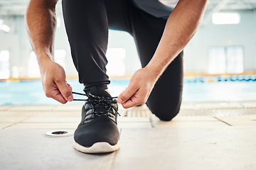
[[[73,101],[72,88],[66,82],[63,67],[54,62],[55,5],[58,0],[31,0],[26,12],[26,27],[41,71],[47,97],[60,103]]]

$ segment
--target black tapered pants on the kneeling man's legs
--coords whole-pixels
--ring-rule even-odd
[[[142,67],[153,57],[166,20],[156,18],[131,0],[63,0],[63,16],[73,62],[85,89],[107,89],[108,29],[124,30],[136,42]],[[171,120],[181,106],[183,52],[169,65],[149,96],[146,105],[161,120]]]

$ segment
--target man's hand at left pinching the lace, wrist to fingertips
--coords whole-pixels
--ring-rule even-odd
[[[43,91],[46,96],[63,104],[73,101],[72,87],[65,79],[63,67],[52,60],[46,60],[40,65]]]

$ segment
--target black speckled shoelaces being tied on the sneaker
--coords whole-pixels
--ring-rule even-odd
[[[113,103],[117,102],[117,101],[114,101],[113,99],[117,98],[117,97],[106,98],[106,97],[95,96],[95,95],[90,94],[90,93],[88,95],[87,94],[80,94],[80,93],[77,93],[77,92],[72,92],[72,93],[88,97],[86,99],[73,99],[73,101],[87,101],[87,103],[92,103],[92,107],[87,108],[87,111],[90,110],[90,109],[94,109],[94,108],[105,108],[105,111],[94,111],[92,113],[86,114],[85,117],[87,117],[88,115],[92,115],[92,117],[82,118],[82,122],[84,122],[85,120],[90,120],[90,119],[93,119],[93,118],[100,117],[102,115],[107,115],[111,118],[114,118],[114,116],[115,116],[114,111],[116,111],[117,114],[120,115],[117,111],[117,108],[112,106]],[[89,96],[91,96],[92,98],[89,98]],[[114,109],[114,111],[112,110],[112,108]],[[87,112],[87,111],[85,111],[85,112]]]

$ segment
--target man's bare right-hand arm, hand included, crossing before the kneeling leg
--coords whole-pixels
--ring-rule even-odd
[[[146,103],[154,84],[198,30],[207,0],[180,0],[169,16],[154,56],[117,98],[124,108]]]

